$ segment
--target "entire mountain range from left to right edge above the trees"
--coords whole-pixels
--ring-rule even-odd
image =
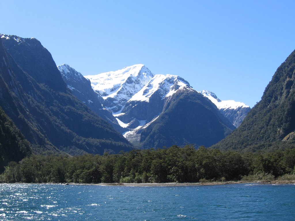
[[[153,74],[145,65],[83,76],[69,65],[56,66],[35,38],[0,37],[3,165],[13,156],[6,138],[20,144],[11,149],[15,159],[31,151],[75,155],[185,144],[239,151],[295,145],[295,52],[250,110],[198,92],[180,76]]]

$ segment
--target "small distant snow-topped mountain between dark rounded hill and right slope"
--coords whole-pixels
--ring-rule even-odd
[[[250,107],[242,102],[234,100],[220,100],[217,96],[209,91],[202,90],[201,94],[214,103],[218,110],[235,126],[238,127],[250,111]]]

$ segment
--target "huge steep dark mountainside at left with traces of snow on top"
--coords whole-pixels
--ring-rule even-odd
[[[130,150],[122,135],[72,95],[37,39],[0,36],[0,106],[28,141],[54,151]]]

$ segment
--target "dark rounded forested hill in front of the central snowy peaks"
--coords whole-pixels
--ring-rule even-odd
[[[141,132],[144,148],[195,144],[209,147],[234,126],[216,106],[196,91],[181,90],[166,102],[162,114]]]

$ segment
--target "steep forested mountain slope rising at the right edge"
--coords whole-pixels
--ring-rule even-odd
[[[293,142],[295,134],[295,51],[281,64],[263,96],[241,125],[214,145],[220,149],[263,149],[273,142]]]

